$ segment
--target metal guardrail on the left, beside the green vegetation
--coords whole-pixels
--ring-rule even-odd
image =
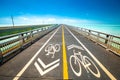
[[[43,35],[57,28],[59,25],[52,27],[42,27],[31,31],[0,37],[0,62],[11,53],[24,48],[25,45],[33,43]]]

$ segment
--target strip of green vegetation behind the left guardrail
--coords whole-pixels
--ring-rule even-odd
[[[25,32],[25,31],[30,31],[33,29],[37,28],[42,28],[45,26],[51,26],[51,25],[34,25],[34,26],[19,26],[19,27],[7,27],[7,28],[0,28],[0,37],[1,36],[6,36],[6,35],[11,35],[11,34],[16,34],[20,32]]]

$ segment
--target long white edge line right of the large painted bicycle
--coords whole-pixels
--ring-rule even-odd
[[[117,80],[105,67],[104,65],[83,45],[83,43],[66,27],[69,33],[78,41],[78,43],[89,53],[89,55],[96,61],[101,69],[109,76],[111,80]]]

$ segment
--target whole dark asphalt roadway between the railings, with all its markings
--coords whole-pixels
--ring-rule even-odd
[[[60,25],[0,66],[0,80],[120,80],[120,57]]]

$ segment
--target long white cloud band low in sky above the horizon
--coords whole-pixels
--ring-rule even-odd
[[[0,18],[0,25],[12,25],[11,18]],[[15,25],[38,25],[38,24],[68,24],[68,25],[81,25],[81,24],[94,24],[98,23],[86,19],[72,19],[54,16],[17,16],[14,17]]]

